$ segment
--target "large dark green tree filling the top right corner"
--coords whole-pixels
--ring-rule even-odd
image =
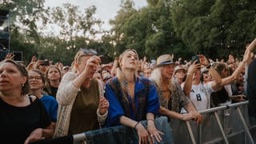
[[[178,0],[171,8],[174,30],[191,52],[211,58],[242,53],[256,33],[251,0]]]

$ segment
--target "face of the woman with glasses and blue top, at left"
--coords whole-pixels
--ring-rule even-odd
[[[41,90],[44,86],[41,75],[35,71],[29,71],[30,90]]]

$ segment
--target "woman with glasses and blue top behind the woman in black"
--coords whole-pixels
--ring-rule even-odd
[[[30,94],[36,96],[46,106],[46,110],[51,118],[52,124],[55,127],[57,122],[58,102],[55,98],[47,95],[43,88],[46,85],[46,76],[41,70],[29,71]]]

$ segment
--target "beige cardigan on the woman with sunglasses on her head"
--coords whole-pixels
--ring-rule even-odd
[[[78,95],[80,89],[73,85],[73,80],[78,75],[74,72],[68,72],[62,78],[62,82],[58,86],[56,95],[58,101],[58,117],[54,131],[54,138],[66,136],[70,126],[70,114],[74,104],[74,100]],[[98,81],[99,94],[103,96],[102,82]],[[104,115],[98,115],[98,122],[104,123],[106,120],[107,112]]]

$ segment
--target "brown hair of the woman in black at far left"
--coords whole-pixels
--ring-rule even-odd
[[[30,92],[30,84],[29,84],[29,82],[27,80],[28,73],[27,73],[26,67],[23,66],[22,64],[14,62],[11,59],[6,59],[6,60],[0,62],[0,65],[2,65],[3,63],[7,63],[7,62],[8,63],[12,63],[14,66],[16,66],[18,71],[22,74],[22,76],[26,77],[26,82],[24,83],[24,86],[22,86],[22,94],[28,94]]]

